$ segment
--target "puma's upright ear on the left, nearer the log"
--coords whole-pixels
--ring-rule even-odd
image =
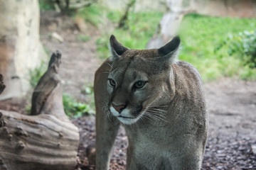
[[[118,42],[114,35],[110,36],[110,52],[112,54],[112,60],[119,58],[119,56],[124,54],[127,50],[128,48]]]

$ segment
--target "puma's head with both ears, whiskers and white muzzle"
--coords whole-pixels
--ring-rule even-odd
[[[110,37],[109,109],[120,122],[130,125],[143,116],[154,118],[174,98],[171,64],[180,42],[175,37],[159,49],[129,50]]]

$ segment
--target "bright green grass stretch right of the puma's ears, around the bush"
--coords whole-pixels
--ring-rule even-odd
[[[256,70],[245,67],[240,58],[228,55],[228,45],[216,52],[229,35],[253,30],[255,26],[255,18],[185,16],[181,23],[179,58],[193,64],[205,81],[234,76],[255,79]]]

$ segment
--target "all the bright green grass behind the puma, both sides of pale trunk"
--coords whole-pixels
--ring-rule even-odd
[[[163,13],[132,12],[128,18],[128,28],[102,33],[97,40],[97,52],[100,58],[110,56],[108,44],[110,35],[116,36],[125,47],[144,49],[146,43],[156,30]],[[118,23],[122,13],[107,12],[107,18],[112,23]],[[228,47],[216,52],[216,48],[228,39],[244,30],[253,30],[255,18],[220,18],[190,14],[181,23],[181,52],[180,60],[190,62],[201,73],[204,81],[221,77],[239,77],[240,79],[256,79],[256,69],[244,65],[242,57],[228,55]]]

